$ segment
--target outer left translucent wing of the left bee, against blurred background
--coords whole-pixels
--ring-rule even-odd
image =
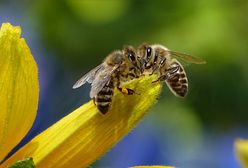
[[[73,89],[77,89],[80,86],[82,86],[83,84],[85,84],[86,82],[88,83],[92,83],[95,76],[97,75],[97,73],[99,72],[99,70],[101,70],[104,67],[103,64],[98,65],[97,67],[95,67],[94,69],[92,69],[90,72],[88,72],[87,74],[85,74],[84,76],[82,76],[74,85],[73,85]]]

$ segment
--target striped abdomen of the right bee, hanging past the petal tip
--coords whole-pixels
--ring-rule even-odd
[[[176,64],[179,66],[178,70],[170,74],[171,77],[166,80],[166,83],[176,96],[185,97],[188,92],[188,79],[182,65]]]

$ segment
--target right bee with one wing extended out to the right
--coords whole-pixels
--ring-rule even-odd
[[[143,44],[139,46],[137,54],[141,62],[141,71],[158,74],[159,77],[154,82],[165,81],[172,93],[178,97],[185,97],[188,92],[186,72],[178,59],[187,63],[206,63],[206,61],[201,58],[171,51],[157,44]]]

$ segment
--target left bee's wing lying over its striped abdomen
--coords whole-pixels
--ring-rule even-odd
[[[102,90],[102,88],[111,80],[112,74],[119,67],[119,65],[115,66],[106,66],[103,70],[101,70],[97,76],[96,80],[94,80],[91,84],[90,97],[96,97],[96,95]]]

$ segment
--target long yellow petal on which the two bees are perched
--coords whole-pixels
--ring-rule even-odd
[[[38,168],[86,167],[134,128],[154,104],[161,88],[152,83],[155,79],[143,76],[125,85],[140,95],[115,90],[112,107],[105,115],[89,101],[31,140],[2,167],[25,157],[32,157]]]

